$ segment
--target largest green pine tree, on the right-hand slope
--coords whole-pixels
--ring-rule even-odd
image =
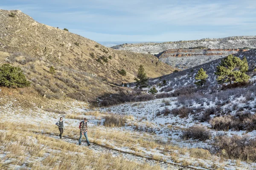
[[[250,76],[245,74],[248,71],[247,59],[241,60],[239,57],[229,55],[221,60],[215,75],[218,76],[218,82],[248,82]]]

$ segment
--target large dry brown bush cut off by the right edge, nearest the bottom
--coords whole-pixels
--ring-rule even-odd
[[[216,136],[212,145],[224,158],[256,162],[256,139],[250,136]]]

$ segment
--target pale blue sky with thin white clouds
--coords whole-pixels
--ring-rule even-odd
[[[0,0],[0,9],[97,42],[256,35],[256,0]]]

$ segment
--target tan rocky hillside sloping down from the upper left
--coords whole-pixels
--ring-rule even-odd
[[[142,64],[148,77],[174,69],[150,54],[116,51],[69,31],[38,23],[21,11],[0,10],[0,61],[18,65],[32,89],[47,98],[81,100],[114,93],[133,82]],[[49,67],[56,69],[50,74]],[[126,76],[119,74],[124,69]],[[31,90],[32,90],[31,89]]]

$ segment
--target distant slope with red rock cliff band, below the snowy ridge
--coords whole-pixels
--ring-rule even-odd
[[[172,49],[163,51],[157,57],[166,64],[184,69],[242,51],[247,49]]]

